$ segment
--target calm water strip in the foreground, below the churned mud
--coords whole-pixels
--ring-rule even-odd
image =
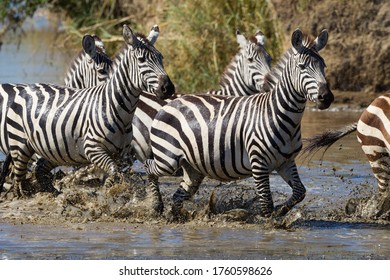
[[[2,259],[387,259],[389,225],[307,221],[299,228],[1,225]]]

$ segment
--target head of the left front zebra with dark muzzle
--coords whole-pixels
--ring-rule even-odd
[[[143,91],[165,99],[175,93],[175,86],[165,72],[163,56],[153,45],[158,34],[158,26],[152,28],[148,38],[142,34],[134,34],[127,25],[123,26],[123,38],[130,47],[133,58],[133,82],[138,80]]]

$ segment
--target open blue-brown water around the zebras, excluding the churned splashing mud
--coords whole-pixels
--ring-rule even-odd
[[[0,82],[63,83],[61,52],[47,52],[53,37],[30,36],[3,45]],[[304,115],[303,137],[355,122],[360,112],[313,112]],[[263,225],[14,225],[0,221],[2,259],[388,259],[389,225],[334,219],[351,195],[376,191],[365,155],[350,135],[311,160],[299,158],[307,197],[292,215],[289,230]],[[240,182],[253,185],[253,180]],[[290,193],[279,176],[272,190]],[[207,187],[207,186],[202,186]],[[202,188],[201,187],[201,188]],[[341,210],[340,210],[341,209]]]

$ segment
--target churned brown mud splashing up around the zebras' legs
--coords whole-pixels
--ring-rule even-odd
[[[8,184],[0,199],[0,220],[15,224],[50,225],[90,222],[180,224],[172,222],[170,213],[171,197],[178,187],[179,178],[166,177],[160,180],[165,209],[162,215],[157,215],[152,210],[152,199],[148,195],[145,174],[127,172],[121,183],[104,189],[104,174],[96,168],[87,170],[88,175],[81,169],[68,171],[65,177],[55,180],[55,187],[61,192],[58,196],[39,192],[31,197],[15,198]],[[323,172],[327,172],[326,168]],[[334,176],[340,180],[347,177],[345,174],[336,173]],[[354,176],[353,172],[350,176]],[[324,178],[322,183],[326,180]],[[321,182],[321,179],[319,181]],[[305,220],[390,224],[390,194],[372,191],[376,189],[372,186],[362,187],[363,191],[354,188],[347,196],[348,199],[341,203],[332,203],[332,198],[327,194],[324,196],[330,201],[321,202],[324,199],[321,198],[321,193],[309,192],[305,200],[285,217],[265,219],[261,217],[258,201],[254,199],[256,195],[253,180],[221,184],[205,179],[193,200],[184,205],[189,214],[186,224],[233,227],[237,224],[255,224],[264,228],[284,229],[299,226],[299,223]],[[288,199],[286,188],[271,186],[271,189],[275,205]],[[371,192],[367,192],[367,189],[371,189]],[[312,205],[316,204],[313,201],[328,205],[313,209]]]

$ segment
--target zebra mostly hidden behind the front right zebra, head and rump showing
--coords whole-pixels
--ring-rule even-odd
[[[264,48],[265,37],[261,31],[246,39],[236,32],[239,51],[226,67],[221,79],[220,89],[207,94],[243,96],[258,93],[265,75],[270,71],[271,56]],[[152,121],[167,100],[159,100],[153,94],[142,93],[133,119],[134,136],[132,154],[141,162],[152,158],[150,129]]]

